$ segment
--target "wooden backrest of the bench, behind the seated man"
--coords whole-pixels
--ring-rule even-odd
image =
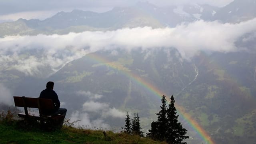
[[[14,96],[13,99],[15,106],[24,107],[24,111],[27,116],[27,108],[38,108],[40,116],[43,116],[45,112],[54,109],[54,105],[51,99],[27,98],[25,96]]]

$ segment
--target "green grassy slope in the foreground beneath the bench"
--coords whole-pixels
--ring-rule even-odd
[[[138,135],[63,126],[46,130],[37,122],[0,118],[0,144],[165,144]]]

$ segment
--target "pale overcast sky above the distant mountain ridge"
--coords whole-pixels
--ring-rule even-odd
[[[138,2],[149,2],[156,6],[180,4],[209,4],[222,7],[233,0],[0,0],[0,22],[18,18],[44,20],[60,11],[73,9],[106,12],[116,6],[134,6]]]

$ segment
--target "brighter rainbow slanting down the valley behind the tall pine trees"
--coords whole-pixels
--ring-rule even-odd
[[[156,86],[150,84],[149,82],[147,82],[145,79],[141,78],[140,76],[137,76],[136,74],[130,72],[130,70],[125,69],[122,64],[113,63],[110,60],[108,60],[102,56],[99,56],[95,53],[90,53],[90,54],[86,55],[86,57],[88,57],[92,60],[95,60],[98,63],[102,63],[110,68],[119,70],[124,75],[126,75],[128,78],[131,78],[133,81],[135,81],[136,83],[138,83],[141,86],[143,86],[144,88],[146,88],[152,94],[158,96],[159,98],[162,98],[162,95],[164,93],[161,92]],[[170,100],[168,100],[168,101],[170,101]],[[191,128],[193,128],[193,130],[195,130],[199,134],[200,138],[202,138],[202,140],[206,144],[214,144],[214,141],[209,136],[209,134],[202,128],[202,126],[200,126],[198,124],[198,122],[196,122],[196,120],[194,120],[190,116],[190,114],[188,114],[185,111],[185,108],[183,108],[182,106],[180,106],[178,104],[175,104],[175,106],[176,106],[176,109],[177,109],[178,113],[180,114],[181,118],[186,120],[186,122],[188,122],[188,124],[191,126]]]

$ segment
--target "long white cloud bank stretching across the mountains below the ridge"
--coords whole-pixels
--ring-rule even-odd
[[[114,31],[66,35],[6,36],[0,38],[0,67],[33,75],[41,66],[58,71],[66,63],[97,50],[132,50],[174,47],[184,59],[198,50],[231,52],[248,32],[256,31],[256,18],[238,24],[198,20],[175,28],[123,28]]]

